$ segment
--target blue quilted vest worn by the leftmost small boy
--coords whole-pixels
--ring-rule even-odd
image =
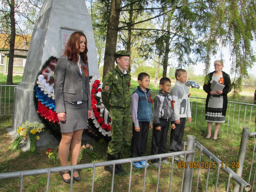
[[[137,118],[139,121],[148,121],[151,122],[153,118],[152,112],[152,103],[148,101],[150,96],[150,89],[147,89],[147,97],[145,92],[138,86],[138,88],[134,91],[139,95],[138,101],[138,112]]]

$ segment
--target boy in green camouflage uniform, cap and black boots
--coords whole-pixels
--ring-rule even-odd
[[[111,117],[112,140],[108,144],[108,161],[120,159],[121,151],[124,149],[132,103],[129,93],[131,75],[126,71],[130,63],[130,55],[131,52],[125,50],[116,52],[114,58],[117,66],[103,80],[101,99]],[[104,168],[110,173],[113,172],[113,165]],[[123,172],[121,164],[116,165],[115,174]]]

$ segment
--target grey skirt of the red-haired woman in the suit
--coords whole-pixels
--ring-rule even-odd
[[[87,128],[87,101],[83,101],[81,104],[67,101],[64,101],[64,103],[66,108],[66,122],[60,121],[60,132],[69,133]]]

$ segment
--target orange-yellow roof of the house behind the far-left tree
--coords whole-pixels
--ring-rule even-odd
[[[0,50],[9,50],[10,44],[7,40],[9,38],[9,34],[0,33]],[[28,50],[29,44],[31,41],[31,35],[19,35],[17,34],[15,37],[15,45],[14,49],[16,50]]]

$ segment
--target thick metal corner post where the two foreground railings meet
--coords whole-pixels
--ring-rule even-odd
[[[187,150],[195,150],[196,146],[195,143],[195,136],[193,135],[187,135]],[[188,154],[186,156],[186,164],[188,164],[188,168],[184,168],[184,181],[182,185],[182,191],[189,192],[191,190],[191,180],[192,180],[192,172],[193,172],[193,166],[191,168],[190,162],[193,162],[193,156],[194,153]],[[193,163],[192,163],[193,164]]]

